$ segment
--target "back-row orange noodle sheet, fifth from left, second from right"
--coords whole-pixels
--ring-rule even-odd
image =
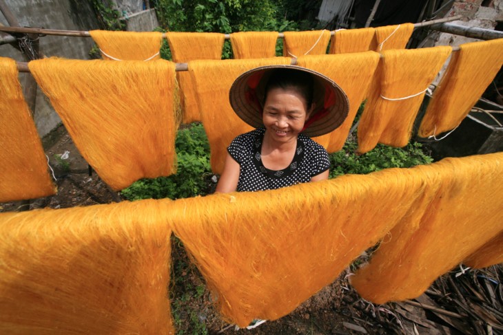
[[[330,40],[329,54],[349,54],[373,50],[372,42],[376,28],[342,29]]]

